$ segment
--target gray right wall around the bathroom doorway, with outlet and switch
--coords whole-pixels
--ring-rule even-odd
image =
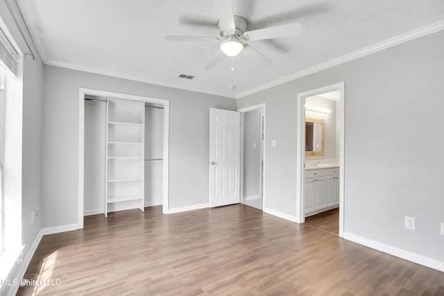
[[[345,81],[345,232],[444,261],[443,48],[441,31],[239,99],[266,103],[265,206],[296,216],[296,94]]]

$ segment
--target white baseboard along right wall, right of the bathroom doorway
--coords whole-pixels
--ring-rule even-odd
[[[364,238],[356,234],[351,234],[350,232],[344,232],[344,239],[352,241],[354,243],[359,243],[359,245],[365,245],[366,247],[371,247],[372,249],[397,256],[399,258],[418,263],[420,265],[427,266],[436,270],[444,272],[444,262],[438,261],[436,259],[429,258],[427,256],[422,256],[407,250],[400,249],[399,247],[393,247],[392,245],[386,245],[385,243],[379,243],[379,241],[373,241],[369,238]]]

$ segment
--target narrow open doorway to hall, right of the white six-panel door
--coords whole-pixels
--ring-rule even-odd
[[[264,210],[265,104],[241,112],[241,203]]]

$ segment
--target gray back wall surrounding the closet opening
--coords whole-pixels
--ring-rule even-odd
[[[236,110],[234,99],[45,66],[44,227],[77,223],[79,87],[169,99],[170,208],[208,202],[209,110]]]

